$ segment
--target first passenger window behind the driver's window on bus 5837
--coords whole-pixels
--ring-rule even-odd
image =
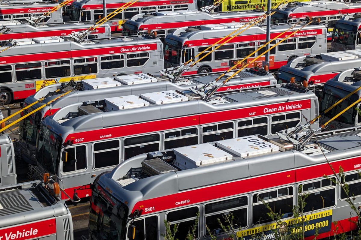
[[[120,163],[119,140],[96,142],[93,146],[94,168],[116,166]]]

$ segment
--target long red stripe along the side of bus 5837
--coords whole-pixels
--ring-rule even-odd
[[[310,99],[291,101],[288,103],[268,104],[257,107],[241,108],[234,110],[225,110],[216,113],[204,113],[193,116],[178,117],[171,119],[161,119],[156,121],[135,123],[124,126],[108,127],[86,132],[77,132],[69,134],[64,142],[73,140],[73,143],[99,141],[115,137],[136,135],[147,132],[164,131],[173,128],[197,126],[200,124],[229,121],[240,118],[263,116],[273,113],[283,113],[309,109],[311,107]]]

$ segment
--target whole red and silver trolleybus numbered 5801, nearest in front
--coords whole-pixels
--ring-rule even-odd
[[[230,232],[218,221],[238,239],[273,239],[278,225],[268,216],[269,208],[283,215],[285,231],[304,224],[306,240],[315,239],[315,229],[317,239],[357,231],[357,214],[345,199],[351,196],[356,206],[361,203],[360,133],[360,128],[324,132],[302,148],[251,135],[132,157],[95,181],[90,239],[159,239],[164,222],[172,230],[177,224],[177,239],[186,239],[192,227],[197,239],[211,234],[227,239]],[[334,183],[338,176],[330,164],[344,169],[340,184]],[[348,184],[348,193],[343,184]],[[293,206],[300,198],[306,198],[299,207],[307,220],[299,223]]]

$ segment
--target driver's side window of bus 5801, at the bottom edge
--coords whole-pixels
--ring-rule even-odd
[[[134,240],[157,240],[158,239],[158,217],[151,216],[135,220],[132,225],[135,226]],[[145,238],[144,238],[145,237]]]

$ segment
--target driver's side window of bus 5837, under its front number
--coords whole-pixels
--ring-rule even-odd
[[[87,168],[86,146],[76,146],[74,148],[66,148],[68,159],[62,162],[62,172],[74,172]]]

